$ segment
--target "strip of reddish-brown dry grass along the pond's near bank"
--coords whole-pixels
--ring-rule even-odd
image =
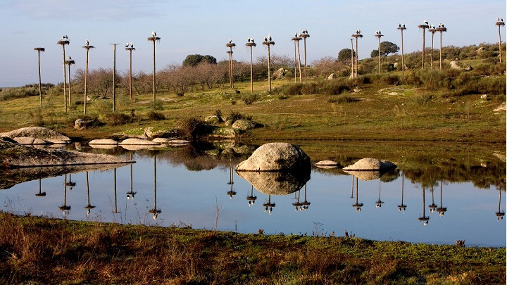
[[[505,248],[263,236],[0,213],[2,284],[505,284]],[[445,253],[445,254],[444,254]]]

